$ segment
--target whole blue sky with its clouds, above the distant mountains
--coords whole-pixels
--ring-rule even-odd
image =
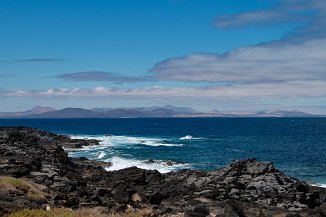
[[[326,114],[324,0],[0,0],[0,111]]]

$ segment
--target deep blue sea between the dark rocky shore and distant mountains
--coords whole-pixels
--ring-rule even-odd
[[[286,174],[326,184],[326,118],[0,119],[0,126],[30,126],[101,145],[70,156],[112,161],[162,172],[209,170],[234,159],[273,161]],[[105,136],[110,134],[111,136]],[[165,165],[171,160],[184,164]]]

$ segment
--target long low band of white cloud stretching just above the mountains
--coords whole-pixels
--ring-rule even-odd
[[[242,97],[312,97],[326,96],[326,81],[292,81],[284,83],[234,84],[206,87],[143,87],[143,88],[53,88],[48,90],[0,91],[0,97],[215,97],[239,99]]]

